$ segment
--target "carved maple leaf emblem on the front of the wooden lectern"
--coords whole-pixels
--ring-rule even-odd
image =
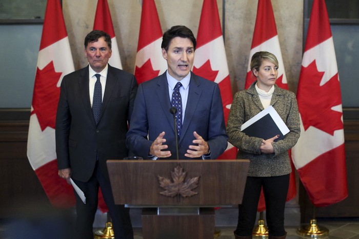
[[[197,194],[197,192],[192,191],[192,189],[198,187],[197,183],[200,176],[188,178],[186,182],[184,182],[186,174],[187,173],[183,171],[183,168],[178,165],[174,168],[174,171],[171,172],[173,182],[167,177],[157,175],[159,186],[166,189],[166,191],[160,192],[160,194],[171,197],[177,195],[189,197]]]

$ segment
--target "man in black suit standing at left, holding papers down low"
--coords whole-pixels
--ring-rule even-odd
[[[106,161],[128,155],[126,132],[137,91],[134,75],[108,65],[111,37],[91,31],[85,37],[89,66],[63,78],[56,115],[58,175],[85,193],[75,192],[75,238],[93,239],[98,187],[112,219],[116,238],[133,238],[129,209],[115,205]]]

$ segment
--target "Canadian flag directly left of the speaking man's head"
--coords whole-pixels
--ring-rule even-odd
[[[162,29],[154,0],[143,0],[134,70],[138,84],[167,70],[167,62],[162,56],[161,43]]]

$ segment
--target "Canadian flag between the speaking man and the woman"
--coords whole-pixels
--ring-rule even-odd
[[[227,124],[233,95],[216,0],[204,0],[203,2],[192,71],[218,83]],[[219,158],[234,159],[236,154],[237,149],[228,144],[227,150]]]

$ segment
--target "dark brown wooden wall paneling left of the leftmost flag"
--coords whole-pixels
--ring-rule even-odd
[[[18,209],[48,205],[47,196],[28,161],[29,121],[16,111],[1,110],[0,117],[0,215],[11,216]]]

